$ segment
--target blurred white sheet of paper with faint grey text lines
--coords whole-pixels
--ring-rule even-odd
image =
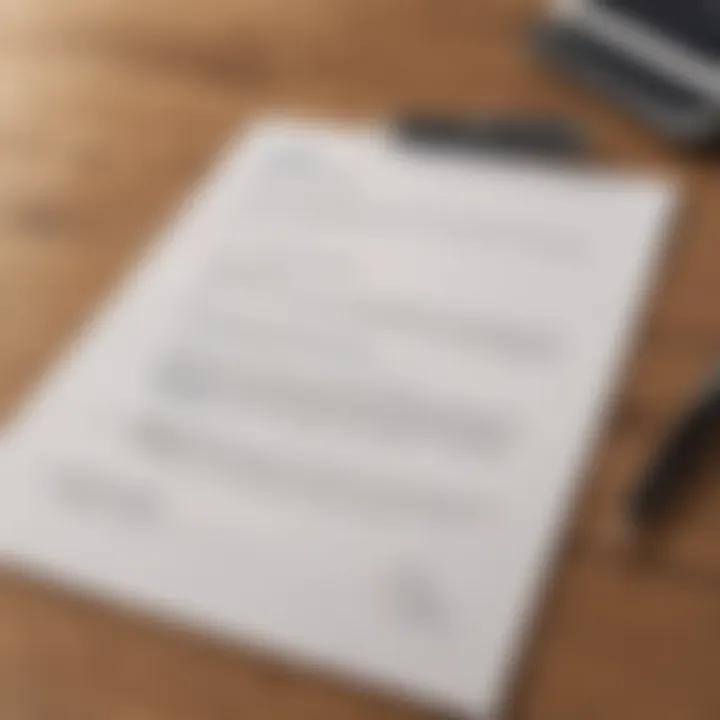
[[[492,717],[673,206],[259,125],[7,428],[0,558]]]

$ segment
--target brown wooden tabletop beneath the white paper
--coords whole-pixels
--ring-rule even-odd
[[[688,209],[511,714],[714,720],[720,483],[701,486],[640,564],[608,528],[720,356],[720,166],[674,154],[536,67],[522,52],[535,11],[530,0],[5,0],[0,409],[15,407],[252,116],[533,108],[577,117],[608,163],[680,177]],[[719,466],[716,456],[708,474]],[[2,720],[430,717],[0,574]]]

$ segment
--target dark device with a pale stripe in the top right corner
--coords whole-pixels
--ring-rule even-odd
[[[572,0],[532,46],[663,135],[720,140],[720,0]]]

